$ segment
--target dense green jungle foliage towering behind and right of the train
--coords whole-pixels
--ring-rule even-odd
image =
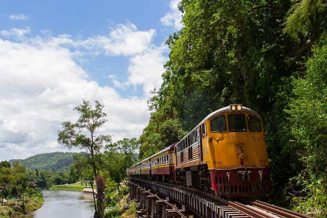
[[[269,200],[326,217],[327,2],[183,0],[140,157],[232,103],[264,119]]]

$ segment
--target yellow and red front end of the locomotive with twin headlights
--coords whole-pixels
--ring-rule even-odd
[[[210,172],[212,191],[229,197],[266,195],[271,182],[261,116],[230,105],[200,125],[202,163]]]

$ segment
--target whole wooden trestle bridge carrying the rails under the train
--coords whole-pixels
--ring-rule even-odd
[[[245,198],[224,199],[194,188],[132,178],[129,200],[138,203],[136,217],[205,217],[205,218],[309,218],[260,201]]]

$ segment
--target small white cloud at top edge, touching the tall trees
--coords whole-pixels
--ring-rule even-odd
[[[178,10],[179,2],[180,0],[171,0],[169,4],[170,11],[160,18],[163,25],[173,26],[176,30],[180,30],[183,27],[181,23],[183,14]]]

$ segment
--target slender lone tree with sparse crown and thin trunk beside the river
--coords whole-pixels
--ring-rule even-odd
[[[96,132],[107,122],[107,119],[105,119],[106,113],[103,112],[103,107],[104,105],[100,104],[99,101],[96,101],[95,108],[92,108],[89,101],[83,100],[81,105],[74,108],[74,110],[79,113],[77,122],[63,122],[63,130],[58,133],[58,142],[63,146],[68,149],[77,147],[86,150],[89,153],[94,180],[96,177],[100,176],[99,169],[97,169],[97,154],[100,153],[100,150],[103,148],[105,143],[111,142],[110,135],[98,135]],[[99,193],[99,195],[102,195],[102,193]],[[96,217],[104,217],[101,209],[103,202],[98,201],[96,204],[95,195],[93,197]]]

